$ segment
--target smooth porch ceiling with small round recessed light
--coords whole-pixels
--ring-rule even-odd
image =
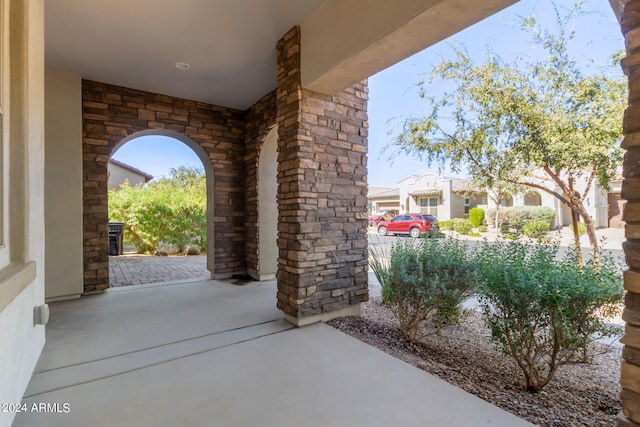
[[[277,41],[324,1],[47,0],[46,65],[244,110],[276,87]]]

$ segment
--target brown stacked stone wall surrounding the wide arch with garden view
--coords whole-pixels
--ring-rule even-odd
[[[85,292],[109,287],[107,163],[123,139],[149,129],[179,132],[207,153],[214,171],[215,274],[244,270],[245,113],[92,81],[82,83],[82,107]]]

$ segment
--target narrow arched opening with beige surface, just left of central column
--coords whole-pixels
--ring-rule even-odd
[[[269,131],[258,160],[258,277],[275,279],[278,269],[278,129]]]

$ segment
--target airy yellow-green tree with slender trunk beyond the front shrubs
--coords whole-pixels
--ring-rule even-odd
[[[595,181],[608,188],[621,164],[626,82],[605,69],[584,73],[568,53],[575,33],[567,29],[580,6],[555,11],[554,31],[534,17],[521,20],[531,43],[544,50],[542,59],[505,61],[487,52],[476,64],[464,47],[453,46],[453,59],[418,84],[430,112],[407,119],[391,147],[466,171],[487,190],[528,186],[550,193],[584,218],[595,248],[584,201]],[[573,190],[578,179],[587,182],[582,194]]]

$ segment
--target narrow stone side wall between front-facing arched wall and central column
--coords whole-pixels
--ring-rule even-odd
[[[264,141],[276,123],[276,92],[263,96],[247,110],[244,182],[245,182],[245,253],[246,270],[251,277],[260,277],[259,217],[258,217],[258,160]],[[273,242],[275,246],[275,242]]]

